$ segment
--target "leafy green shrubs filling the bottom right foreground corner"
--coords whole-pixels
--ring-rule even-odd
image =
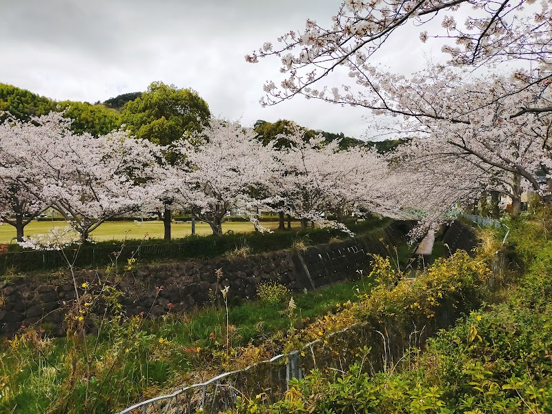
[[[345,372],[314,370],[292,380],[283,400],[241,398],[233,412],[549,413],[551,311],[500,305],[472,313],[430,339],[426,353],[406,355],[402,371],[366,373],[361,351]]]

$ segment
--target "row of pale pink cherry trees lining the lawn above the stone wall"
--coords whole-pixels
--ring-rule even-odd
[[[213,119],[173,143],[168,157],[168,147],[125,130],[75,134],[55,112],[28,123],[7,119],[0,126],[1,219],[22,239],[26,224],[55,208],[84,240],[111,217],[162,209],[188,211],[214,234],[230,210],[256,225],[261,210],[326,224],[336,211],[400,210],[386,190],[386,159],[305,132],[293,126],[290,145],[277,150],[250,128]]]

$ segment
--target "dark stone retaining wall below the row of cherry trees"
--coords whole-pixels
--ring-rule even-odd
[[[230,286],[230,299],[254,299],[262,282],[277,281],[301,292],[359,277],[368,270],[368,253],[387,255],[390,246],[405,242],[410,222],[395,221],[371,237],[313,246],[306,251],[284,250],[244,258],[139,266],[117,285],[127,315],[159,317],[213,303],[216,293]],[[217,280],[215,271],[221,269]],[[366,273],[364,273],[366,274]],[[97,286],[98,271],[80,272],[78,286]],[[105,280],[104,280],[105,283]],[[10,278],[0,282],[0,335],[14,335],[21,326],[40,325],[51,335],[65,335],[63,314],[75,299],[67,275]],[[216,302],[216,299],[215,299]]]

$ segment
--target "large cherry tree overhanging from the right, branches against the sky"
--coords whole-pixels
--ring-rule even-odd
[[[404,77],[377,65],[377,51],[395,30],[400,34],[411,22],[424,30],[437,14],[444,14],[441,31],[423,31],[420,39],[451,40],[442,48],[448,66],[436,63]],[[466,16],[463,26],[456,23],[458,16]],[[546,0],[346,0],[331,28],[308,20],[304,32],[284,34],[277,46],[265,43],[246,60],[277,56],[282,61],[286,77],[278,86],[266,83],[264,105],[304,95],[400,117],[395,132],[416,136],[408,148],[418,150],[406,158],[417,173],[406,166],[411,175],[404,179],[412,183],[404,188],[410,195],[431,189],[433,201],[440,201],[425,203],[426,217],[444,217],[451,206],[489,189],[510,195],[517,213],[524,189],[537,191],[543,201],[551,198],[551,22]],[[496,73],[495,65],[504,62],[506,75]],[[326,86],[340,68],[351,83]],[[442,164],[433,165],[435,159]],[[462,173],[446,174],[442,166]],[[542,175],[548,186],[541,184]],[[446,182],[442,194],[435,191],[435,177]],[[422,201],[427,197],[414,204]]]

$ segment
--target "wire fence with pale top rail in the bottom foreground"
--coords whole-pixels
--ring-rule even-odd
[[[206,382],[140,402],[118,414],[219,413],[233,408],[238,397],[259,395],[265,401],[275,402],[284,396],[292,378],[300,380],[315,368],[344,371],[358,359],[359,348],[375,339],[373,328],[353,324],[299,350],[222,373]]]

